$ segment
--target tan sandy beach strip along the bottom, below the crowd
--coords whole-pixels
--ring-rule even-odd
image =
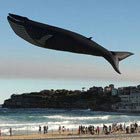
[[[73,134],[71,133],[65,133],[65,134],[58,134],[57,132],[48,133],[48,134],[30,134],[30,135],[16,135],[16,136],[1,136],[0,140],[140,140],[140,134],[139,133],[134,133],[134,134],[110,134],[110,135],[90,135],[90,134],[85,134],[85,135],[78,135],[76,132]]]

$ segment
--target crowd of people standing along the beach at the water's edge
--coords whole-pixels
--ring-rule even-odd
[[[38,132],[39,134],[47,134],[49,131],[48,125],[40,126]],[[57,130],[55,130],[57,132]],[[55,132],[54,131],[54,132]],[[138,126],[137,123],[132,123],[129,126],[126,124],[117,124],[113,123],[112,125],[105,125],[103,124],[102,127],[99,126],[94,126],[94,125],[89,125],[89,126],[84,126],[80,125],[78,127],[78,130],[75,129],[69,129],[66,128],[65,126],[59,125],[58,127],[58,134],[73,134],[73,132],[76,132],[74,134],[77,135],[84,135],[84,134],[91,134],[91,135],[99,135],[99,134],[114,134],[114,133],[126,133],[126,134],[131,134],[131,133],[140,133],[140,126]],[[12,136],[12,128],[9,129],[9,135]],[[0,131],[1,135],[1,131]]]

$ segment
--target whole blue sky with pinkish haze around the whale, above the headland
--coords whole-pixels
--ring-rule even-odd
[[[108,50],[135,55],[120,63],[119,75],[103,58],[25,42],[10,28],[8,13],[92,36]],[[13,93],[140,84],[139,0],[1,0],[0,32],[0,103]]]

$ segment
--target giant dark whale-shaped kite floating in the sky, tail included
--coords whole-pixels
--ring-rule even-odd
[[[31,44],[47,49],[102,56],[118,73],[120,73],[119,61],[133,55],[131,52],[109,51],[91,40],[91,37],[87,38],[66,29],[32,21],[27,17],[9,14],[7,19],[14,32]]]

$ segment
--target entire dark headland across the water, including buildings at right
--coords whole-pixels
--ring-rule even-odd
[[[140,85],[115,88],[91,87],[85,90],[42,90],[13,94],[3,108],[91,109],[94,111],[140,112]]]

